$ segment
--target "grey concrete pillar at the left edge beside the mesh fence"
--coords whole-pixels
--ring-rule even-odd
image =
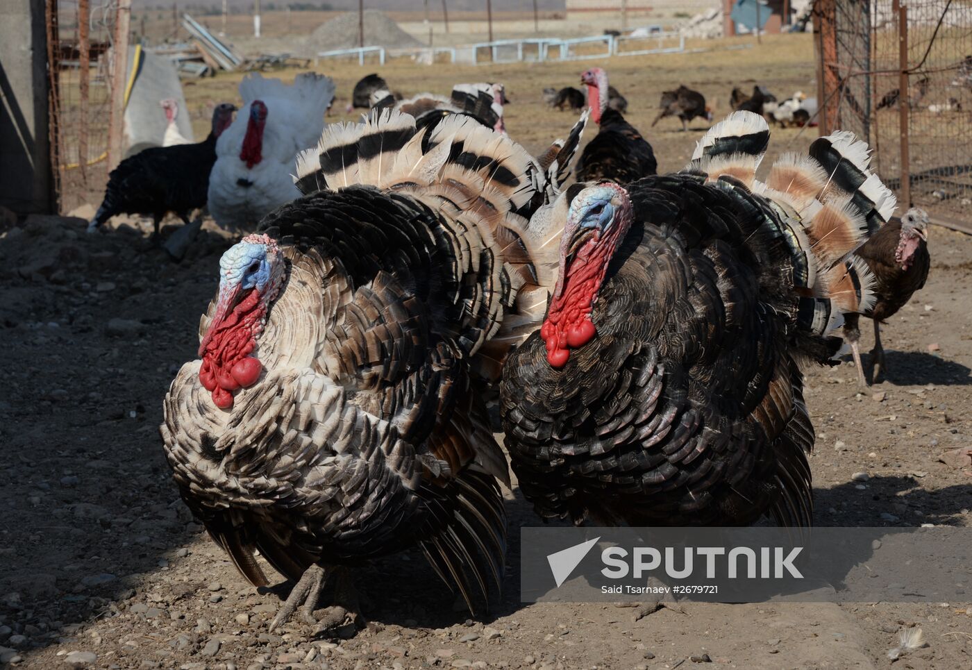
[[[44,0],[0,0],[0,205],[51,212]]]

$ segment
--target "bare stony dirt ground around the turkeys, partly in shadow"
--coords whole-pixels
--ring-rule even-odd
[[[729,64],[730,55],[741,61]],[[695,85],[721,113],[729,89],[746,79],[810,88],[801,57],[742,50],[619,59],[610,73],[660,168],[672,170],[700,132],[677,132],[675,121],[649,129],[658,91]],[[543,109],[539,89],[573,84],[577,69],[474,72],[507,82],[510,134],[538,149],[573,122]],[[443,70],[423,70],[422,88],[469,81],[467,72]],[[334,73],[345,96],[360,74]],[[413,69],[385,74],[406,92],[419,88],[405,86]],[[774,150],[811,139],[797,135],[775,132]],[[187,259],[173,264],[130,223],[97,235],[85,234],[82,219],[34,217],[0,228],[0,665],[885,668],[899,631],[920,627],[927,647],[895,667],[972,667],[968,603],[686,604],[683,613],[665,609],[637,622],[631,609],[612,605],[523,606],[518,529],[538,519],[515,487],[507,495],[504,599],[491,617],[468,620],[409,553],[361,569],[370,623],[357,637],[320,640],[296,623],[267,633],[281,590],[247,585],[192,521],[157,433],[162,396],[195,357],[199,314],[231,240],[207,225]],[[861,394],[848,363],[809,371],[819,525],[972,525],[972,467],[963,456],[972,447],[972,237],[933,228],[929,247],[928,283],[882,332],[886,379]],[[870,347],[869,335],[862,344]],[[868,478],[852,478],[859,473]]]

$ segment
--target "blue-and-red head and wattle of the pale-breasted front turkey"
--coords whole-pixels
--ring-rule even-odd
[[[260,378],[263,366],[251,354],[285,274],[277,242],[265,234],[247,235],[220,259],[216,313],[199,344],[199,381],[216,406],[233,406],[233,392]]]

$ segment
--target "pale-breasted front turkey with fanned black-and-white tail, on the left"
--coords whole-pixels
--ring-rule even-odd
[[[499,586],[508,476],[478,389],[542,319],[583,125],[546,170],[461,115],[330,125],[298,159],[307,195],[221,259],[161,434],[246,579],[267,582],[256,549],[297,580],[271,629],[331,574],[326,620],[360,621],[350,568],[408,547],[473,611]]]

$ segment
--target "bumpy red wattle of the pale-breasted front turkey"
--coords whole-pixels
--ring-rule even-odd
[[[223,409],[233,406],[232,392],[257,383],[263,366],[250,356],[257,346],[266,307],[252,289],[221,322],[210,324],[202,352],[199,381]]]

